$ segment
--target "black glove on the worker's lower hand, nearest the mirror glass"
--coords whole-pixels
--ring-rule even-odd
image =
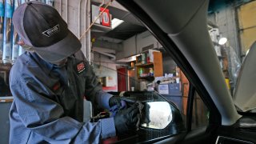
[[[114,126],[117,134],[126,134],[129,130],[136,129],[136,123],[138,122],[138,104],[125,109],[119,110],[114,116]]]

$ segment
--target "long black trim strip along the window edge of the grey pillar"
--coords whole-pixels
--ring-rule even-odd
[[[117,0],[122,6],[126,7],[127,10],[130,10],[135,17],[140,20],[144,26],[158,39],[158,42],[162,44],[168,54],[174,59],[174,62],[181,68],[182,72],[186,74],[186,77],[192,83],[192,85],[197,90],[199,96],[202,98],[202,101],[206,104],[208,110],[211,114],[214,114],[214,117],[210,117],[210,122],[214,124],[221,124],[221,114],[218,112],[217,107],[215,106],[213,100],[210,98],[206,88],[202,85],[201,80],[198,78],[198,75],[194,72],[194,69],[190,66],[190,63],[186,60],[184,55],[178,49],[178,46],[168,37],[158,25],[149,17],[148,14],[141,7],[139,7],[134,1],[127,0]]]

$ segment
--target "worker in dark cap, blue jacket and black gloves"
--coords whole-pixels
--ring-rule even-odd
[[[135,129],[136,105],[114,118],[82,121],[84,97],[108,110],[121,101],[102,91],[81,42],[57,10],[26,2],[14,11],[13,23],[27,51],[10,71],[10,143],[99,143]]]

